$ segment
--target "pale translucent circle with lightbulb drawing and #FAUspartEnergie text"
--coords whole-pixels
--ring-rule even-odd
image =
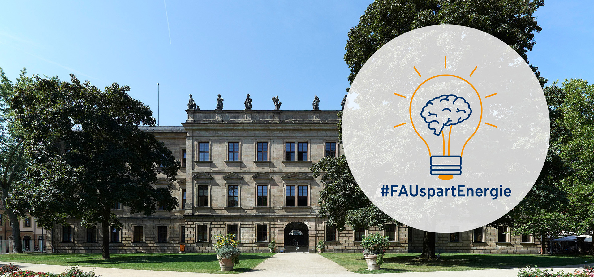
[[[424,231],[491,224],[530,191],[548,108],[522,56],[463,26],[422,27],[378,49],[342,118],[355,181],[384,213]]]

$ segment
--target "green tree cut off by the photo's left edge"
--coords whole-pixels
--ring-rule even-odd
[[[23,68],[17,84],[30,83],[31,78],[26,77],[27,71]],[[14,194],[16,184],[23,180],[27,157],[24,155],[23,136],[18,124],[14,122],[14,112],[10,102],[14,95],[14,85],[0,68],[0,196],[4,213],[12,225],[12,238],[14,250],[23,253],[21,244],[21,229],[18,216],[24,215],[23,209],[15,209],[10,203],[10,196]]]

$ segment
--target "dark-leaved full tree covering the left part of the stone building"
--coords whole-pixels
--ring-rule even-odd
[[[113,205],[144,215],[154,213],[157,203],[172,210],[177,200],[171,187],[153,183],[159,171],[175,181],[180,163],[165,144],[138,128],[154,126],[155,119],[148,106],[128,96],[128,86],[113,83],[102,91],[75,75],[72,83],[34,80],[15,86],[11,102],[31,156],[30,181],[16,202],[27,202],[46,228],[68,218],[85,226],[100,223],[103,259],[109,259],[109,228],[121,226]]]

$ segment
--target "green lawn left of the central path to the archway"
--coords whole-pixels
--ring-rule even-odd
[[[4,254],[3,262],[43,263],[46,265],[115,267],[125,269],[165,270],[202,273],[246,272],[274,253],[242,253],[239,265],[232,272],[220,271],[214,253],[142,253],[110,254],[111,259],[102,260],[101,254]]]

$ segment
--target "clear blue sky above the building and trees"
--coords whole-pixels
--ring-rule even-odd
[[[371,1],[2,2],[0,67],[11,80],[74,73],[116,82],[149,105],[160,125],[185,121],[188,95],[201,109],[340,109],[348,86],[347,32]],[[165,8],[166,7],[166,8]],[[545,2],[529,61],[549,80],[592,79],[594,5]],[[169,26],[168,26],[169,23]],[[549,81],[550,83],[550,81]]]

